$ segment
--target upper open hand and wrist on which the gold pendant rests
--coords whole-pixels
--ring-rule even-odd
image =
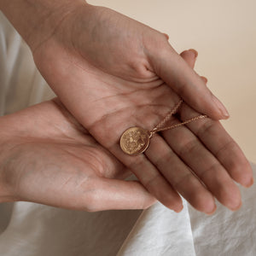
[[[54,7],[44,1],[37,13],[31,9],[38,3],[26,1],[29,8],[19,6],[18,15],[9,5],[20,2],[1,3],[68,111],[166,207],[182,210],[179,193],[201,212],[215,211],[214,198],[238,209],[241,195],[234,180],[252,185],[252,170],[214,120],[228,113],[193,71],[195,52],[181,58],[165,34],[136,20],[84,2],[64,2],[58,8],[61,1]],[[31,15],[19,23],[19,10],[25,14],[27,9]],[[31,23],[37,29],[32,30]],[[145,154],[131,157],[120,150],[123,131],[131,126],[151,130],[180,96],[185,102],[181,119],[199,113],[212,119],[155,135]]]

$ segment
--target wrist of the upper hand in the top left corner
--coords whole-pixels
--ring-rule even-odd
[[[87,5],[83,0],[0,0],[0,9],[33,51],[81,4]]]

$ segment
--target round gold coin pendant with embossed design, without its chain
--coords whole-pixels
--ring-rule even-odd
[[[149,145],[149,132],[140,127],[127,129],[120,138],[120,147],[126,154],[142,154]]]

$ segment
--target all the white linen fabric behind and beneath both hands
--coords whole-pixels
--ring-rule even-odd
[[[19,34],[0,13],[0,115],[54,96]],[[2,148],[4,150],[4,148]],[[254,177],[256,166],[253,165]],[[29,202],[0,204],[0,256],[253,256],[256,187],[242,189],[243,206],[218,204],[207,216],[183,201],[172,212],[76,212]]]

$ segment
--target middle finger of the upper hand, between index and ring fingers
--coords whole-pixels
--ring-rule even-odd
[[[201,120],[196,121],[197,124],[200,122]],[[163,137],[218,201],[231,210],[241,206],[240,191],[224,166],[189,129],[185,126],[177,127],[163,132]]]

